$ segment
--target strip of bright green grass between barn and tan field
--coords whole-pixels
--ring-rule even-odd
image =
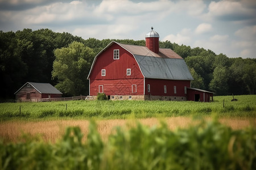
[[[0,103],[0,120],[40,118],[148,118],[171,116],[255,117],[256,95],[215,96],[212,103],[195,101],[52,101]],[[224,102],[223,102],[224,101]],[[224,107],[223,107],[224,103]]]

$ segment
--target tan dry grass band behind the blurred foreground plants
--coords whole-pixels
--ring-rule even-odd
[[[166,117],[166,118],[142,118],[142,119],[115,119],[115,120],[98,120],[98,133],[106,141],[113,130],[119,126],[126,129],[127,126],[133,126],[140,122],[144,126],[159,126],[160,122],[165,122],[170,130],[177,128],[188,128],[188,126],[197,125],[202,119],[191,117]],[[212,121],[212,118],[204,118],[204,121]],[[251,127],[256,128],[256,120],[251,118],[219,118],[221,124],[229,126],[234,130]],[[88,120],[46,120],[46,121],[5,121],[0,124],[0,139],[5,143],[23,141],[26,134],[30,137],[40,137],[43,141],[55,143],[64,135],[68,127],[79,127],[85,137],[88,134]]]

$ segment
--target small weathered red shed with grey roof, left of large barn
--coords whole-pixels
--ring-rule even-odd
[[[61,97],[62,93],[49,83],[27,82],[15,92],[17,101],[38,101],[44,98]]]

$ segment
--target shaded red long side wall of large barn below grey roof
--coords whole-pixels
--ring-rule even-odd
[[[150,92],[147,91],[147,84],[150,84]],[[164,93],[166,86],[166,94]],[[174,94],[176,86],[176,94]],[[155,96],[187,96],[184,87],[190,87],[189,80],[162,80],[162,79],[145,79],[145,95]]]

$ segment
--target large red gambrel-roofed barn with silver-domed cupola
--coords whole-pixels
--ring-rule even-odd
[[[193,80],[182,57],[159,49],[159,34],[146,34],[146,46],[112,41],[94,58],[89,95],[105,93],[109,99],[187,100]]]

